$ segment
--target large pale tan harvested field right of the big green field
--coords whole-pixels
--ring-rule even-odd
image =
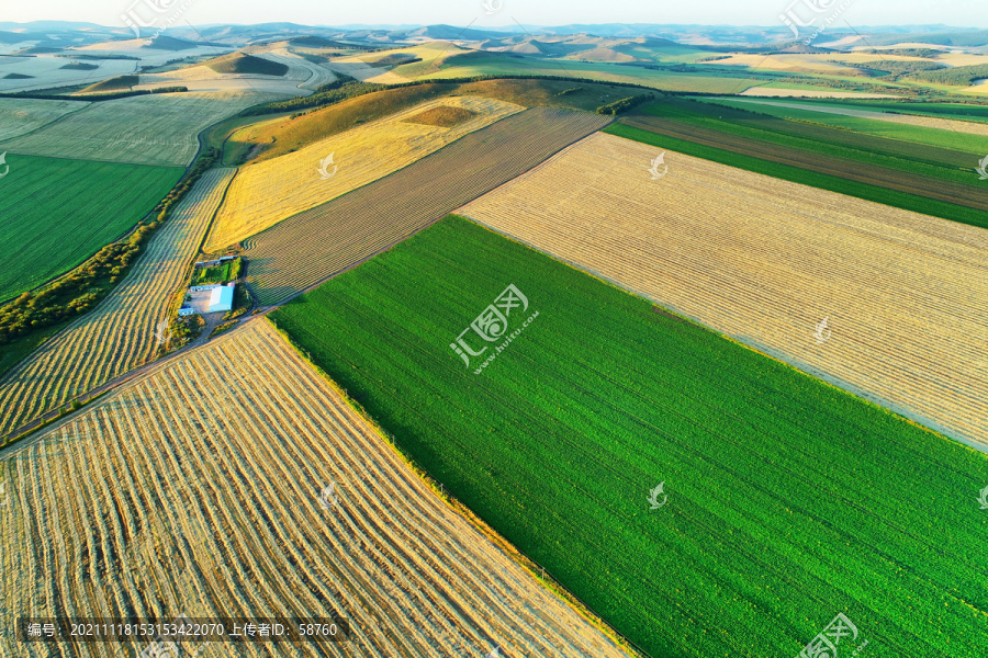
[[[595,135],[462,213],[988,450],[988,234],[659,152]]]

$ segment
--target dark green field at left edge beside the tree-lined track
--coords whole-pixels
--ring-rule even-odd
[[[7,155],[0,180],[0,300],[66,272],[120,238],[184,171]]]

